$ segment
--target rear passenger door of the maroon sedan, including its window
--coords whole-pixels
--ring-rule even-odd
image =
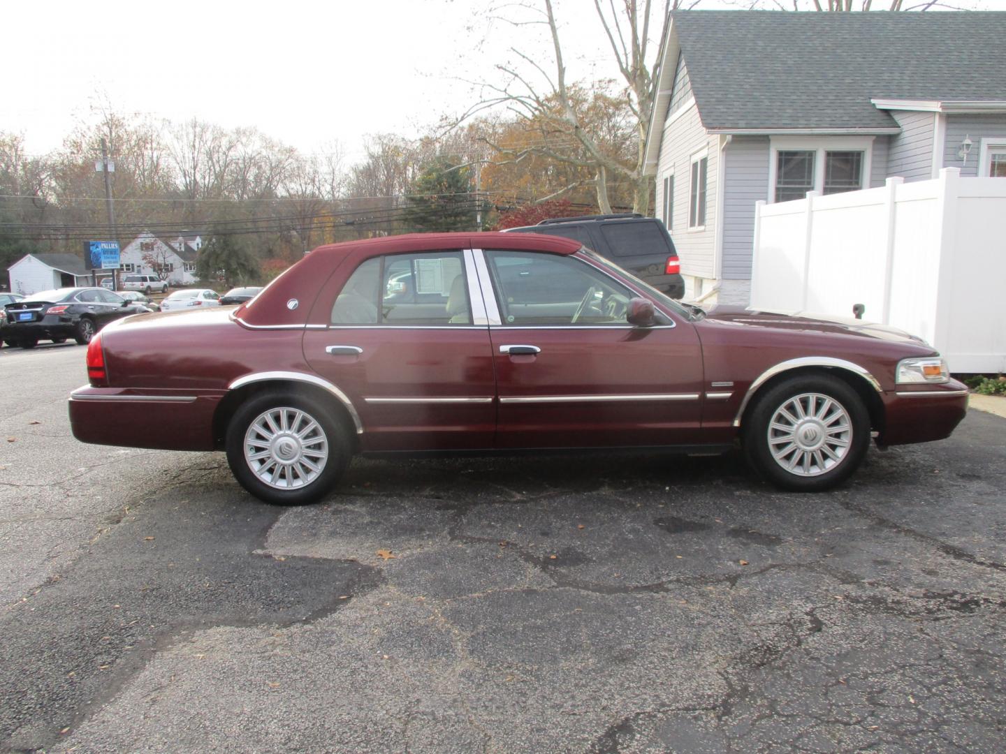
[[[305,333],[311,368],[356,408],[364,451],[492,447],[496,386],[471,258],[366,259],[331,304],[328,327]]]

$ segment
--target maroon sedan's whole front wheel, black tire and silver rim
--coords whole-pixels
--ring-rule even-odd
[[[741,431],[748,463],[769,482],[793,492],[822,492],[859,467],[870,417],[856,391],[837,377],[797,375],[758,396]]]

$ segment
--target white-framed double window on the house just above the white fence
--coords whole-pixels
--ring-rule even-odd
[[[869,186],[873,137],[773,137],[769,201],[839,194]]]

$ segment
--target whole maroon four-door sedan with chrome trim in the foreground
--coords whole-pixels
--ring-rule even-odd
[[[88,374],[77,439],[224,449],[279,504],[317,500],[354,453],[738,442],[775,484],[824,490],[871,436],[947,437],[967,403],[903,333],[704,312],[575,241],[514,233],[322,246],[237,309],[110,325]]]

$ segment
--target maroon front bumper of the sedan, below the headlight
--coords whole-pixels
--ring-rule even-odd
[[[957,380],[945,385],[902,385],[884,393],[884,427],[878,445],[905,445],[949,437],[968,412],[968,388]]]

